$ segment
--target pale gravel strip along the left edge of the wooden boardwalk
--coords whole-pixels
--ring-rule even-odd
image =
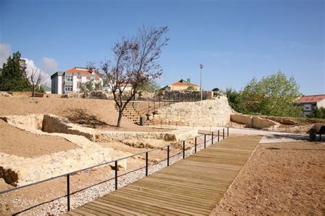
[[[206,147],[211,145],[210,139],[211,139],[211,136],[207,135],[206,136]],[[214,140],[217,141],[217,138],[215,138]],[[194,146],[187,149],[185,151],[185,157],[189,157],[191,154],[193,154],[194,149],[195,149]],[[197,152],[199,152],[202,149],[204,149],[204,143],[198,144]],[[180,160],[182,160],[182,151],[179,154],[176,154],[175,156],[170,157],[169,165],[176,163],[177,161],[180,161]],[[154,172],[157,172],[158,170],[162,170],[166,166],[167,166],[167,160],[160,161],[159,163],[156,163],[155,165],[149,165],[148,172],[149,172],[149,174],[153,174]],[[134,181],[139,180],[144,177],[145,177],[145,168],[142,168],[141,170],[138,170],[135,172],[131,172],[130,174],[125,174],[123,176],[120,176],[118,178],[118,188],[121,188],[125,185],[129,185],[130,183],[133,183]],[[115,179],[113,178],[112,180],[108,180],[105,183],[101,183],[99,185],[95,185],[88,189],[84,189],[80,192],[74,193],[73,195],[70,196],[71,209],[77,208],[78,206],[81,206],[82,204],[91,202],[91,201],[95,200],[96,198],[106,195],[114,190],[115,190]],[[37,206],[35,208],[32,208],[28,211],[21,213],[21,215],[60,215],[65,212],[67,212],[67,197],[59,198],[57,200],[54,200],[53,202],[42,204],[40,206]]]

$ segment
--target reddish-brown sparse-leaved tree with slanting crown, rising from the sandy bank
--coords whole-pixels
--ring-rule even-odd
[[[126,105],[134,98],[139,87],[144,83],[160,78],[163,70],[158,63],[161,49],[167,45],[165,37],[167,27],[141,27],[136,36],[122,38],[112,47],[115,57],[113,62],[101,64],[105,73],[105,81],[112,90],[115,103],[119,109],[117,126],[121,126],[121,118]],[[132,89],[125,94],[127,85]],[[124,94],[123,94],[124,93]],[[123,97],[126,97],[123,100]]]

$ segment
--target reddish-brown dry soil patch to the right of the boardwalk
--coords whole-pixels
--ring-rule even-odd
[[[324,215],[325,144],[259,145],[212,215]]]

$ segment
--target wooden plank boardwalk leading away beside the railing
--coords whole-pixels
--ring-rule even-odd
[[[228,137],[68,215],[208,215],[260,136]]]

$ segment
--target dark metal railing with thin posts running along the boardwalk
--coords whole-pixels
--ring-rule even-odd
[[[217,135],[215,135],[215,133],[217,133]],[[206,140],[206,135],[211,135],[211,139]],[[198,138],[198,137],[202,137],[202,136],[204,136],[204,141],[203,141],[202,143],[197,143],[197,138]],[[229,136],[229,128],[227,128],[227,137],[228,137],[228,136]],[[208,141],[211,141],[211,145],[213,145],[213,144],[214,144],[214,138],[215,138],[215,137],[217,137],[217,141],[218,141],[218,142],[220,141],[220,137],[222,137],[222,139],[225,139],[225,129],[222,129],[222,135],[220,135],[220,130],[210,132],[210,134],[204,133],[204,134],[201,134],[201,135],[197,135],[197,136],[195,137],[195,143],[194,143],[194,154],[197,152],[197,146],[199,146],[199,145],[201,145],[201,144],[204,144],[204,148],[206,148],[206,144],[208,143]],[[191,139],[193,139],[193,138],[191,138]],[[138,154],[132,154],[132,155],[130,155],[130,156],[128,156],[128,157],[123,157],[123,158],[121,158],[121,159],[116,159],[116,160],[108,161],[108,162],[106,162],[106,163],[101,163],[101,164],[98,164],[98,165],[93,165],[93,166],[91,166],[91,167],[86,167],[86,168],[84,168],[84,169],[77,170],[77,171],[73,171],[73,172],[69,172],[69,173],[67,173],[67,174],[62,174],[62,175],[55,176],[55,177],[52,177],[52,178],[47,178],[47,179],[45,179],[45,180],[40,180],[40,181],[38,181],[38,182],[36,182],[36,183],[31,183],[31,184],[28,184],[28,185],[23,185],[23,186],[15,187],[15,188],[12,188],[12,189],[7,189],[7,190],[4,190],[4,191],[0,191],[0,195],[1,195],[1,194],[4,194],[4,193],[9,193],[9,192],[11,192],[11,191],[16,191],[16,190],[19,190],[19,189],[23,189],[23,188],[25,188],[25,187],[31,187],[31,186],[33,186],[33,185],[38,185],[38,184],[40,184],[40,183],[45,183],[45,182],[47,182],[47,181],[49,181],[49,180],[54,180],[54,179],[56,179],[56,178],[61,178],[61,177],[64,177],[64,176],[65,176],[65,177],[67,178],[67,195],[64,195],[64,196],[61,196],[61,197],[55,198],[55,199],[50,200],[50,201],[47,201],[47,202],[42,202],[42,203],[40,203],[40,204],[36,204],[36,205],[31,206],[31,207],[29,207],[29,208],[25,208],[25,209],[23,209],[22,211],[19,211],[19,212],[17,212],[17,213],[14,213],[14,215],[19,214],[19,213],[23,213],[23,212],[28,211],[28,210],[30,210],[30,209],[32,209],[32,208],[35,208],[36,206],[40,206],[40,205],[43,205],[43,204],[46,204],[46,203],[52,202],[52,201],[54,201],[54,200],[58,200],[58,199],[60,199],[60,198],[64,198],[64,197],[67,197],[67,211],[70,211],[70,210],[71,210],[70,196],[73,195],[74,193],[78,193],[78,192],[80,192],[80,191],[84,191],[85,189],[89,189],[89,188],[91,188],[91,187],[94,187],[94,186],[96,186],[96,185],[100,185],[100,184],[102,184],[102,183],[108,182],[109,180],[113,180],[113,179],[115,179],[115,190],[117,190],[117,189],[118,189],[118,178],[119,178],[119,177],[121,177],[121,176],[125,176],[126,174],[130,174],[130,173],[132,173],[132,172],[136,172],[136,171],[142,170],[142,169],[144,169],[144,168],[145,168],[145,176],[148,176],[148,174],[149,174],[149,172],[148,172],[148,167],[149,167],[149,152],[154,152],[154,151],[156,151],[156,150],[163,150],[163,148],[167,148],[167,158],[158,162],[158,163],[162,163],[163,161],[166,161],[166,160],[167,160],[167,166],[170,165],[170,159],[171,159],[172,157],[175,157],[175,156],[178,155],[178,154],[181,154],[181,153],[182,153],[182,159],[184,159],[184,158],[185,158],[185,152],[186,152],[185,144],[186,144],[186,141],[188,141],[188,140],[190,140],[190,139],[186,139],[186,140],[184,140],[184,141],[178,141],[178,142],[176,142],[176,143],[171,143],[171,144],[168,144],[168,145],[166,145],[166,146],[159,147],[159,148],[154,148],[154,149],[149,150],[149,151],[146,151],[146,152],[140,152],[140,153],[138,153]],[[181,152],[178,152],[178,153],[176,153],[176,154],[173,154],[173,155],[170,156],[170,146],[172,146],[172,145],[176,145],[176,144],[179,144],[180,142],[182,142],[182,151],[181,151]],[[191,148],[193,148],[193,146],[192,146]],[[124,174],[118,175],[118,168],[117,168],[117,167],[118,167],[118,165],[119,165],[119,161],[122,161],[122,160],[125,160],[125,159],[129,159],[129,158],[131,158],[131,157],[135,157],[135,156],[138,156],[138,155],[140,155],[140,154],[145,154],[145,167],[140,167],[140,168],[138,168],[138,169],[136,169],[136,170],[132,170],[132,171],[130,171],[130,172],[126,172],[126,173],[124,173]],[[73,174],[77,174],[78,172],[84,172],[84,171],[86,171],[86,170],[91,170],[91,169],[93,169],[93,168],[95,168],[95,167],[99,167],[99,166],[102,166],[102,165],[108,165],[108,164],[110,164],[110,163],[114,163],[114,170],[115,170],[115,176],[114,176],[114,178],[109,178],[108,180],[101,181],[100,183],[96,183],[95,185],[91,185],[91,186],[85,187],[85,188],[83,188],[83,189],[79,189],[79,190],[77,190],[77,191],[74,191],[73,193],[70,192],[70,191],[71,191],[71,190],[70,190],[70,187],[71,187],[71,185],[70,185],[70,176],[71,176],[71,175],[73,175]],[[154,163],[154,164],[152,164],[152,166],[153,166],[153,165],[157,165],[158,163]]]

